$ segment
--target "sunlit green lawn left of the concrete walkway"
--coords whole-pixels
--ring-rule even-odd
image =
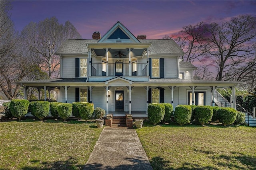
[[[84,121],[0,123],[0,169],[83,169],[102,128]]]

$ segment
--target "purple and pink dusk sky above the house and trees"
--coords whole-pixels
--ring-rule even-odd
[[[224,21],[240,14],[256,15],[256,1],[13,1],[12,20],[21,31],[30,21],[56,16],[69,20],[82,35],[104,35],[120,21],[135,36],[162,39],[200,21]]]

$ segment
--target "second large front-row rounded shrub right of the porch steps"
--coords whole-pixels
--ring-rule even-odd
[[[174,111],[174,120],[179,125],[190,123],[192,109],[187,105],[177,105]]]

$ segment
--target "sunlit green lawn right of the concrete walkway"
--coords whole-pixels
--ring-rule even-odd
[[[136,129],[154,170],[255,170],[256,128],[157,125]]]

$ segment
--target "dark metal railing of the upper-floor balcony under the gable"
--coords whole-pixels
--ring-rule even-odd
[[[132,67],[133,66],[133,67]],[[92,76],[106,76],[106,64],[92,64]],[[108,63],[108,76],[129,76],[129,63]],[[147,64],[132,64],[131,76],[147,76]]]

